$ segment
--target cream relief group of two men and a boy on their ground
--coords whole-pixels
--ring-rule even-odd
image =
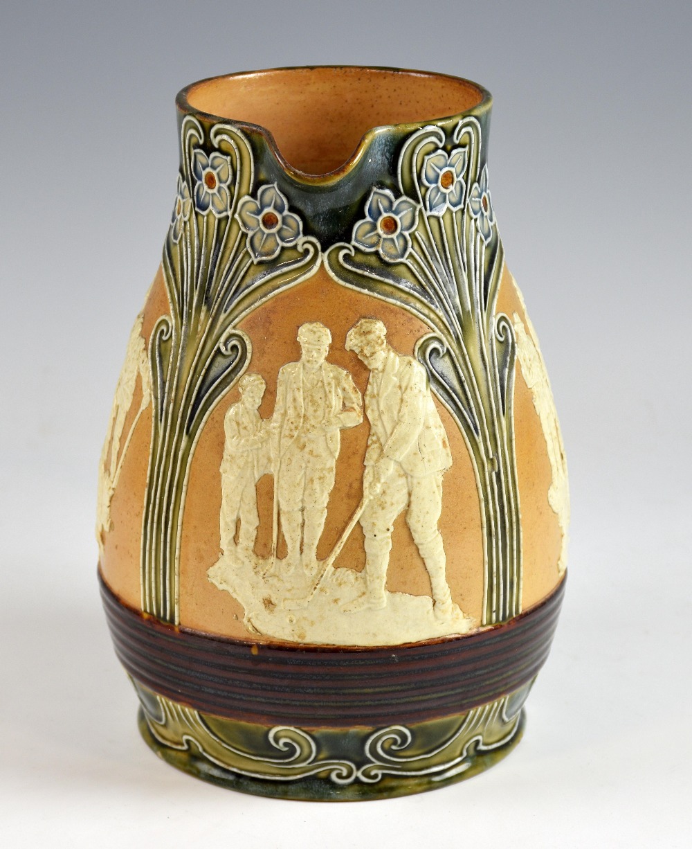
[[[335,482],[340,431],[361,424],[362,399],[348,372],[326,362],[329,330],[319,323],[299,329],[301,357],[279,371],[271,419],[257,412],[265,390],[259,374],[241,381],[241,401],[226,413],[221,465],[220,560],[209,580],[245,608],[255,633],[310,643],[399,644],[472,625],[453,604],[438,529],[449,443],[427,384],[413,357],[388,346],[382,322],[361,319],[346,349],[370,369],[365,408],[370,426],[363,495],[332,552],[317,559]],[[255,485],[274,476],[271,558],[254,551],[259,525]],[[432,599],[386,589],[393,523],[405,511],[421,554]],[[238,528],[237,522],[240,521]],[[360,521],[366,568],[334,568]],[[279,526],[287,554],[277,559]],[[237,542],[236,542],[237,537]]]

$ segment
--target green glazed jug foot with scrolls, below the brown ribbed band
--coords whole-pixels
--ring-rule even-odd
[[[300,801],[387,799],[471,778],[522,739],[530,689],[410,726],[306,730],[200,714],[136,687],[140,733],[165,762],[231,790]]]

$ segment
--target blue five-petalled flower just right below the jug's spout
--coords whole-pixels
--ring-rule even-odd
[[[356,245],[368,253],[376,250],[383,260],[404,260],[411,248],[410,231],[418,222],[418,206],[410,198],[394,200],[388,188],[374,188],[366,204],[366,218],[353,232]]]

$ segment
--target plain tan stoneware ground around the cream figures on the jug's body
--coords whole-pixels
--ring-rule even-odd
[[[154,279],[144,310],[142,334],[148,341],[153,323],[166,312],[161,273]],[[524,318],[511,275],[505,271],[498,309]],[[283,363],[299,358],[296,334],[301,323],[320,321],[332,330],[328,361],[349,370],[361,392],[366,389],[367,370],[353,353],[343,349],[349,328],[363,316],[381,318],[388,339],[401,353],[411,354],[416,340],[427,328],[400,310],[344,290],[320,268],[313,278],[277,295],[243,320],[241,328],[253,341],[252,370],[265,376],[267,389],[260,407],[263,417],[271,415],[275,401],[276,374]],[[517,364],[515,388],[516,456],[522,503],[523,591],[522,609],[538,604],[557,585],[557,560],[561,530],[548,503],[551,474],[545,439],[531,393]],[[181,542],[181,625],[228,637],[262,640],[243,626],[243,608],[229,593],[220,593],[207,579],[207,570],[219,557],[220,462],[223,453],[223,420],[226,410],[239,398],[236,389],[219,404],[207,422],[193,459],[187,489],[187,504]],[[444,476],[444,508],[440,530],[447,551],[447,576],[454,601],[475,621],[480,620],[483,602],[483,543],[476,484],[472,466],[459,429],[444,407],[436,402],[449,436],[454,463]],[[137,409],[132,403],[130,420]],[[130,422],[126,421],[126,428]],[[146,485],[151,430],[150,413],[137,423],[124,459],[119,485],[111,503],[112,530],[105,537],[101,563],[103,577],[121,599],[141,606],[140,545],[142,536],[142,492]],[[367,426],[342,433],[336,484],[332,491],[326,527],[318,554],[326,557],[360,499],[362,460]],[[258,487],[260,531],[256,551],[267,557],[271,548],[271,479]],[[429,595],[430,583],[416,545],[405,525],[404,515],[396,521],[392,559],[388,570],[390,592]],[[279,556],[284,554],[279,548]],[[365,564],[363,537],[356,526],[339,555],[336,566],[362,569]]]

